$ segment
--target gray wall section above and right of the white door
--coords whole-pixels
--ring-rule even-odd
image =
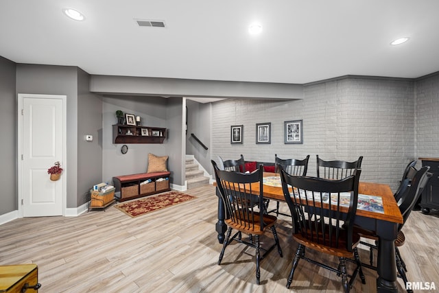
[[[16,93],[67,95],[67,207],[78,207],[78,68],[18,64]]]

